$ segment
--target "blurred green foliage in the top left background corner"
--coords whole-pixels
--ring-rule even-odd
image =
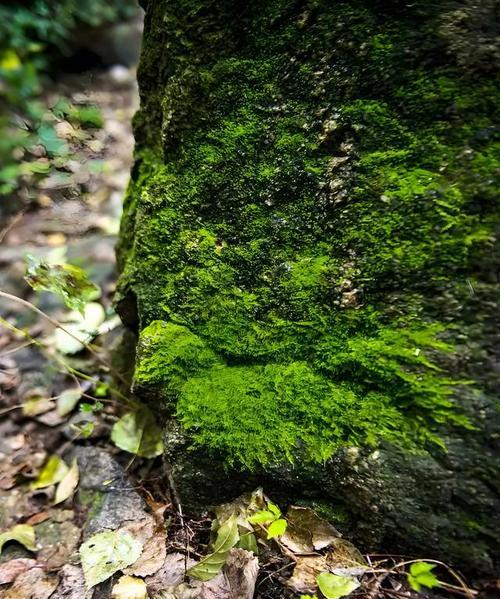
[[[42,178],[51,170],[46,158],[68,153],[55,131],[55,118],[82,126],[101,126],[93,107],[69,102],[47,105],[44,83],[55,59],[71,53],[78,29],[96,28],[132,16],[134,0],[25,0],[0,6],[0,195],[12,193],[22,177]],[[45,150],[30,153],[35,146]]]

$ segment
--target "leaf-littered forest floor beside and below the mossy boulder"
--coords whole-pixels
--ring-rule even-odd
[[[114,246],[133,162],[135,73],[113,67],[68,75],[52,93],[54,101],[64,95],[75,105],[97,106],[103,126],[84,129],[59,119],[57,132],[71,150],[63,176],[29,190],[32,201],[11,211],[0,230],[0,597],[251,599],[256,587],[256,597],[277,599],[314,593],[324,569],[355,586],[322,596],[416,596],[397,560],[362,556],[312,512],[301,514],[314,520],[306,527],[309,536],[315,527],[326,535],[321,547],[309,547],[312,537],[304,539],[300,525],[280,541],[258,534],[266,533],[260,526],[259,564],[248,551],[232,549],[223,575],[184,583],[186,569],[207,552],[210,518],[179,513],[161,457],[126,453],[110,439],[128,393],[112,371],[126,378],[133,363],[130,333],[113,313],[112,298]],[[78,265],[100,293],[81,316],[27,284],[27,260]],[[57,323],[83,334],[87,348],[75,345]],[[88,351],[90,341],[95,353]],[[240,529],[248,527],[252,501],[260,511],[274,505],[257,492],[226,506],[226,516],[239,515]],[[289,524],[297,513],[289,510]],[[281,518],[279,510],[273,517]],[[220,511],[218,518],[219,530],[232,522]],[[139,540],[139,559],[129,559],[133,545],[116,545],[116,531]],[[219,554],[227,557],[232,546],[219,547]],[[91,589],[89,581],[95,583]],[[476,596],[455,583],[458,596]]]

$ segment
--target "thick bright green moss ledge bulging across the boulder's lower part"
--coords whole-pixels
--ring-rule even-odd
[[[467,425],[452,409],[451,381],[421,351],[450,349],[435,333],[325,335],[315,367],[235,365],[186,327],[154,321],[141,333],[135,388],[153,389],[171,410],[176,406],[196,446],[250,469],[280,460],[325,462],[347,443],[386,440],[415,449],[441,443],[430,419]]]

